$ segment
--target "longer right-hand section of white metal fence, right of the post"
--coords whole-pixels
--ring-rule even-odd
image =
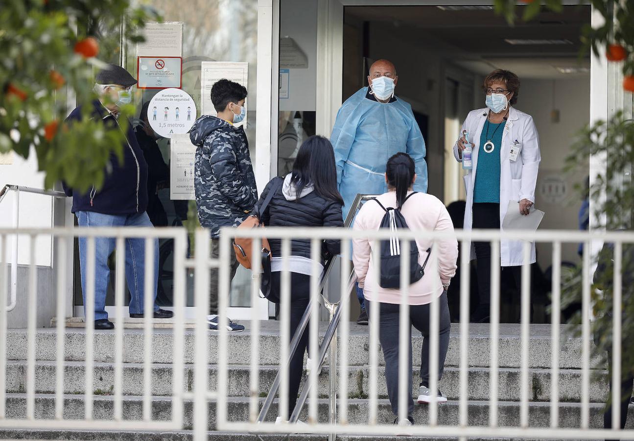
[[[392,236],[392,232],[379,230],[379,231],[353,231],[335,228],[312,228],[312,229],[292,229],[292,228],[266,228],[266,229],[254,229],[254,230],[224,230],[221,234],[221,262],[226,261],[226,257],[231,253],[231,234],[233,237],[250,237],[254,240],[254,249],[258,248],[258,242],[263,237],[267,239],[281,239],[282,243],[282,257],[287,258],[290,252],[290,240],[305,239],[311,242],[312,256],[318,257],[318,252],[321,247],[321,241],[325,239],[339,239],[341,240],[342,254],[347,253],[347,249],[350,247],[350,242],[356,238],[367,238],[373,242],[373,262],[375,265],[375,273],[378,273],[378,267],[376,267],[379,261],[377,250],[379,240],[387,240]],[[406,382],[401,382],[399,387],[399,402],[398,406],[399,415],[398,419],[401,421],[399,425],[381,424],[378,414],[378,308],[372,308],[370,310],[370,344],[369,344],[369,381],[368,381],[368,417],[366,421],[350,423],[348,419],[348,391],[346,379],[349,374],[349,365],[347,364],[347,347],[346,341],[349,335],[349,321],[340,321],[339,332],[342,336],[342,348],[340,354],[342,357],[338,360],[338,365],[333,362],[330,364],[330,369],[338,369],[339,378],[342,380],[339,384],[339,396],[331,399],[337,400],[337,412],[339,418],[337,422],[332,423],[328,421],[329,418],[320,418],[318,412],[318,363],[320,360],[320,354],[318,354],[318,338],[319,332],[316,326],[317,308],[311,308],[310,324],[309,324],[309,357],[313,366],[308,374],[307,384],[309,385],[308,392],[308,409],[307,409],[307,425],[296,425],[292,422],[272,423],[270,421],[259,421],[259,399],[257,398],[257,392],[259,392],[258,376],[256,374],[257,362],[259,359],[259,346],[257,334],[259,332],[257,322],[253,323],[252,329],[252,341],[250,346],[250,357],[252,360],[252,375],[251,388],[252,394],[250,395],[249,403],[249,419],[247,421],[236,421],[235,416],[228,414],[228,398],[224,395],[218,395],[217,401],[217,415],[216,424],[217,430],[223,431],[238,431],[243,432],[245,430],[252,431],[254,433],[321,433],[328,435],[398,435],[406,431],[414,436],[421,437],[434,437],[434,436],[452,436],[460,438],[468,437],[504,437],[504,438],[558,438],[558,439],[598,439],[598,438],[634,438],[634,430],[620,430],[619,429],[619,415],[618,412],[614,412],[614,427],[616,429],[601,429],[590,426],[590,357],[591,357],[591,336],[590,336],[590,243],[593,240],[604,240],[608,242],[614,242],[617,244],[615,247],[615,268],[617,270],[621,265],[621,246],[623,243],[634,243],[634,233],[592,233],[577,231],[538,231],[538,232],[525,232],[525,231],[512,231],[512,232],[500,232],[491,230],[474,230],[474,231],[462,231],[456,232],[431,232],[431,231],[399,231],[398,237],[403,239],[401,243],[401,268],[408,268],[407,256],[409,240],[430,240],[432,242],[438,242],[440,240],[457,239],[460,242],[462,259],[462,268],[469,268],[469,249],[470,242],[472,240],[489,241],[491,242],[492,261],[499,261],[500,258],[500,240],[515,240],[523,243],[523,258],[524,265],[522,265],[522,283],[521,283],[521,350],[520,350],[520,367],[519,367],[519,419],[517,425],[507,426],[500,425],[499,411],[500,411],[500,268],[495,265],[491,268],[491,323],[490,329],[490,351],[491,361],[489,365],[489,385],[490,395],[488,400],[489,419],[487,421],[479,421],[479,423],[473,423],[469,420],[469,271],[463,271],[461,275],[461,290],[460,290],[460,308],[462,310],[460,314],[460,365],[459,365],[459,383],[460,383],[460,396],[458,398],[458,418],[455,425],[441,424],[439,421],[439,404],[436,402],[438,391],[438,353],[439,348],[439,302],[438,298],[433,298],[430,303],[430,384],[429,390],[431,393],[429,404],[429,417],[427,423],[424,425],[414,425],[404,427],[402,423],[407,418],[407,406],[404,405],[411,397],[408,397],[409,391],[406,390]],[[530,243],[534,242],[550,242],[553,244],[553,268],[556,268],[553,272],[552,279],[552,358],[550,374],[553,379],[550,390],[550,424],[536,426],[531,423],[529,419],[529,405],[531,403],[531,388],[529,387],[529,338],[530,338],[530,278],[529,278],[529,259],[530,259]],[[581,390],[580,392],[580,418],[579,425],[577,427],[560,426],[559,421],[559,348],[560,348],[560,309],[561,309],[561,297],[560,297],[560,263],[561,263],[561,250],[562,242],[579,243],[583,242],[584,257],[583,257],[583,301],[581,310],[583,311],[583,320],[581,324]],[[432,247],[434,249],[434,247]],[[349,256],[342,258],[342,264],[349,261]],[[429,272],[434,273],[438,268],[437,256],[432,252],[432,257],[429,264]],[[221,265],[221,295],[220,295],[220,320],[226,319],[226,313],[224,309],[227,305],[228,298],[228,266]],[[283,272],[284,273],[284,272]],[[316,273],[316,272],[313,272]],[[342,272],[346,273],[346,272]],[[615,270],[616,273],[616,270]],[[318,297],[320,296],[318,279],[312,278],[310,289],[310,301],[313,305],[318,305]],[[343,278],[342,278],[343,279]],[[408,286],[408,272],[401,270],[401,286]],[[342,292],[347,293],[347,280],[342,281]],[[620,286],[620,278],[615,276],[615,286]],[[252,287],[252,296],[257,296],[259,288],[257,283]],[[438,289],[440,288],[440,282],[438,281]],[[288,316],[288,306],[285,304],[290,302],[290,278],[282,275],[281,277],[281,315],[280,326],[283,330],[285,326],[288,326],[290,320]],[[614,298],[620,298],[620,289],[615,289]],[[401,289],[401,319],[399,321],[399,366],[402,376],[411,375],[411,367],[408,366],[406,357],[408,353],[408,341],[407,336],[410,332],[410,322],[408,319],[408,290]],[[620,303],[615,301],[614,303],[614,316],[620,317]],[[345,312],[349,311],[349,296],[342,296],[340,308]],[[615,320],[615,323],[618,320]],[[614,341],[620,339],[620,327],[614,326]],[[287,331],[281,332],[280,339],[280,360],[286,360],[288,357],[289,335]],[[218,365],[218,387],[217,390],[227,390],[228,384],[228,369],[230,369],[229,360],[226,357],[228,344],[228,333],[226,330],[221,329],[219,332],[219,365]],[[615,350],[612,354],[614,365],[620,365],[620,350]],[[281,365],[281,385],[284,385],[288,381],[288,372],[285,365]],[[612,371],[613,380],[616,381],[619,376],[616,371]],[[619,374],[620,375],[620,374]],[[403,378],[403,377],[401,377]],[[620,384],[620,380],[615,384]],[[284,389],[282,388],[282,391]],[[304,391],[306,392],[306,390]],[[612,390],[612,400],[615,403],[620,402],[619,388]],[[278,397],[278,409],[280,414],[283,414],[285,409],[288,409],[288,397],[285,393],[280,393]],[[201,413],[202,415],[202,413]],[[294,414],[294,417],[296,415]],[[539,423],[538,423],[539,424]],[[196,439],[202,440],[203,435],[199,432],[196,433]]]

